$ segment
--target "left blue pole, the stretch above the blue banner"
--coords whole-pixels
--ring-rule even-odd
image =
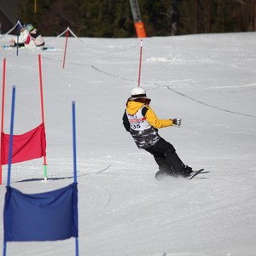
[[[13,135],[14,135],[14,122],[15,122],[15,92],[16,87],[13,86],[12,94],[12,109],[11,109],[11,120],[10,120],[10,131],[9,131],[9,158],[8,158],[8,177],[7,177],[7,186],[10,184],[10,172],[12,164],[12,153],[13,153]]]

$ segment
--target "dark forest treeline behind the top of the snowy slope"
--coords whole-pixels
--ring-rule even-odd
[[[148,37],[256,31],[256,0],[137,0]],[[20,20],[45,36],[136,37],[129,0],[24,0]]]

